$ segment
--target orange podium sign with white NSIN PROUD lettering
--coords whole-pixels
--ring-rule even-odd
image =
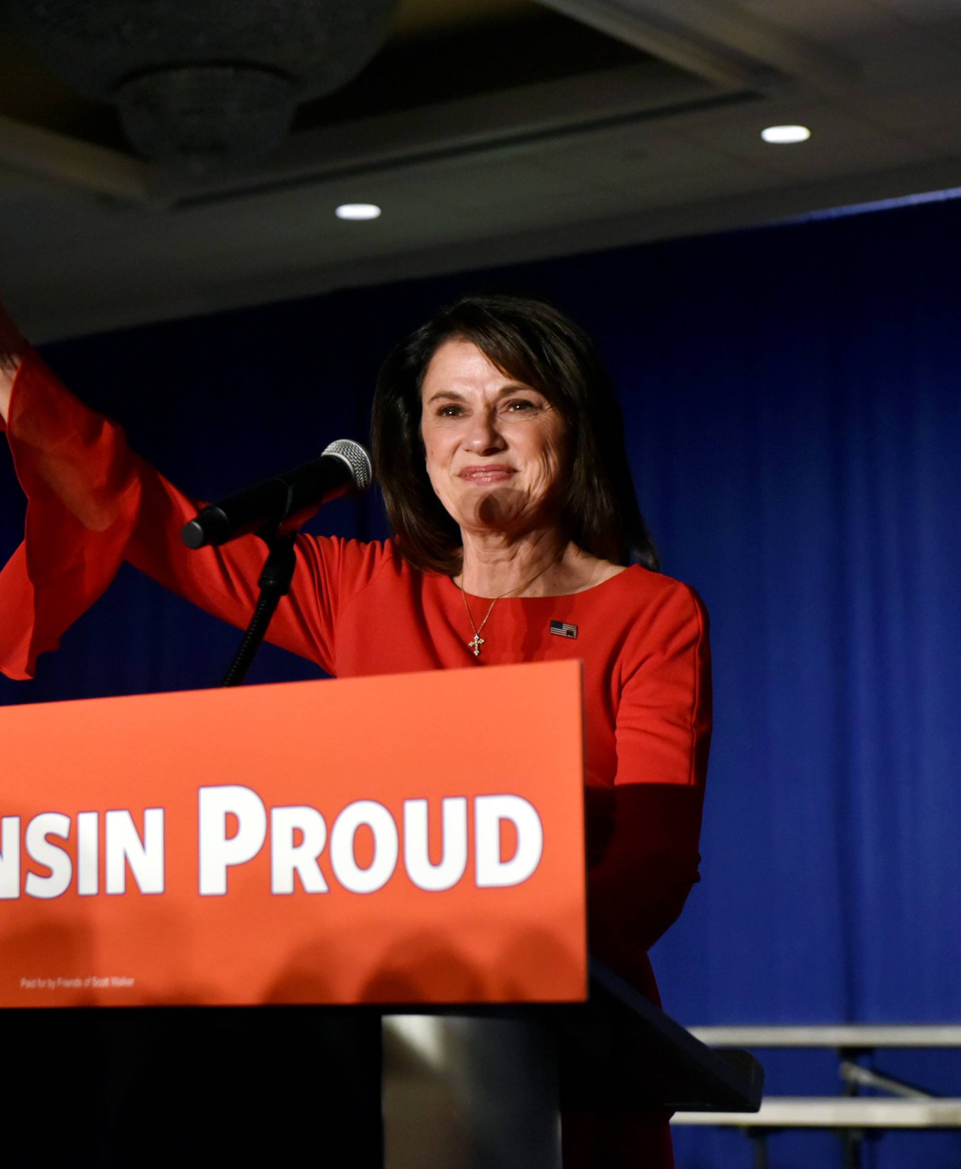
[[[586,997],[578,662],[0,711],[0,1005]]]

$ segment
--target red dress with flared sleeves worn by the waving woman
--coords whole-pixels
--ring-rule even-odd
[[[216,616],[248,623],[263,542],[189,551],[180,528],[196,504],[34,353],[14,383],[8,438],[29,503],[25,542],[0,573],[5,673],[32,677],[37,655],[56,649],[124,559]],[[294,584],[270,639],[328,673],[583,660],[591,949],[656,1001],[647,949],[697,880],[711,710],[699,597],[640,566],[567,596],[504,597],[475,658],[448,577],[412,569],[390,541],[300,535],[297,547]],[[480,622],[489,599],[467,600]],[[577,637],[551,632],[551,622],[576,627]],[[639,1142],[654,1153],[647,1137],[663,1149],[663,1116],[631,1127],[628,1160],[612,1148],[610,1164],[669,1163],[669,1154],[638,1160]]]

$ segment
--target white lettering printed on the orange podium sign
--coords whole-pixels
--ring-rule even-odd
[[[316,894],[332,888],[375,893],[404,876],[427,892],[450,890],[464,880],[478,888],[506,888],[528,880],[543,856],[541,817],[518,795],[474,796],[473,832],[465,796],[444,797],[432,807],[427,800],[405,800],[399,816],[375,800],[356,800],[332,818],[328,830],[327,818],[316,808],[267,808],[250,787],[203,787],[197,795],[195,855],[201,897],[225,897],[230,870],[249,864],[264,849],[270,855],[270,892],[278,897],[292,894],[298,886]],[[440,817],[437,859],[429,848],[431,815]],[[0,900],[51,900],[70,890],[79,897],[118,897],[133,890],[162,894],[166,826],[163,808],[147,808],[140,817],[125,809],[82,811],[75,817],[60,811],[29,819],[4,816]],[[514,837],[510,850],[502,846],[506,828]],[[372,850],[364,851],[364,864],[357,856],[358,832],[372,842]],[[100,987],[93,976],[85,977],[91,981],[79,980],[79,987]],[[37,985],[29,985],[32,981]],[[49,981],[23,980],[21,988],[40,989]],[[124,982],[106,984],[123,987]]]

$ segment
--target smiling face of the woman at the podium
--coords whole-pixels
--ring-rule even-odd
[[[438,498],[468,531],[520,534],[557,518],[564,420],[471,341],[445,341],[422,387],[420,434]]]

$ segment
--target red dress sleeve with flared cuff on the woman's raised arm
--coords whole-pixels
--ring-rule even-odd
[[[200,506],[85,407],[29,351],[14,380],[7,440],[27,494],[23,542],[0,572],[0,670],[32,678],[40,653],[100,596],[126,559],[208,613],[244,627],[266,545],[250,535],[191,551],[181,527]],[[336,672],[342,596],[389,555],[383,545],[299,535],[291,593],[269,639]]]

